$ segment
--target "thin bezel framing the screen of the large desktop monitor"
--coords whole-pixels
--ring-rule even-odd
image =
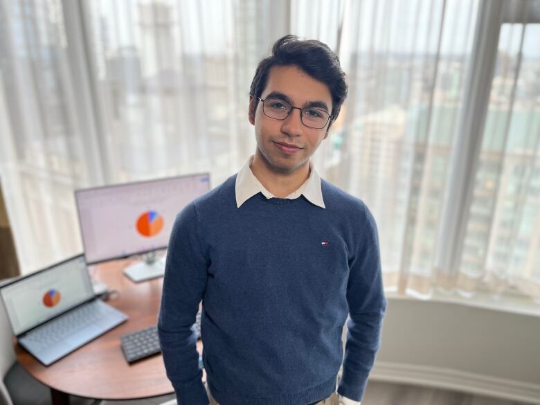
[[[79,192],[101,190],[101,189],[104,189],[104,188],[123,188],[123,187],[134,186],[134,185],[138,186],[138,185],[141,185],[141,184],[144,184],[144,183],[156,183],[157,181],[168,181],[168,180],[182,179],[182,178],[185,178],[185,177],[199,177],[199,176],[200,177],[201,176],[207,176],[208,177],[208,190],[207,190],[207,192],[212,190],[212,186],[210,185],[210,172],[181,174],[179,176],[160,177],[159,179],[129,181],[128,183],[107,184],[105,186],[96,186],[96,187],[87,187],[87,188],[75,189],[75,191],[73,192],[73,198],[75,199],[75,207],[77,208],[77,217],[78,217],[78,220],[79,220],[79,232],[80,232],[80,236],[81,236],[81,240],[82,240],[82,248],[84,250],[84,253],[83,253],[84,261],[87,263],[87,265],[110,262],[111,260],[120,260],[120,259],[129,258],[130,256],[133,256],[133,255],[143,255],[145,253],[150,253],[150,252],[154,252],[154,251],[160,251],[160,250],[163,250],[163,249],[167,249],[169,245],[165,244],[164,246],[156,246],[156,247],[154,247],[154,249],[147,249],[147,250],[142,250],[142,251],[133,251],[133,252],[130,252],[130,253],[126,253],[125,255],[113,255],[113,256],[111,256],[109,258],[102,258],[102,259],[99,259],[99,260],[89,261],[88,257],[87,257],[87,249],[86,249],[87,244],[86,244],[86,242],[84,240],[84,233],[82,231],[82,222],[81,222],[81,217],[80,217],[80,209],[79,209],[79,204],[78,204],[78,201],[77,201],[77,194]]]

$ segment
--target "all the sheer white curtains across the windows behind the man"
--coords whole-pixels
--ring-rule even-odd
[[[540,298],[539,1],[511,3],[0,0],[0,173],[21,267],[82,249],[74,188],[236,172],[255,147],[255,66],[294,33],[348,73],[315,160],[372,209],[386,287]]]

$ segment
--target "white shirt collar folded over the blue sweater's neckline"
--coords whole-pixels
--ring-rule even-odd
[[[235,194],[236,194],[236,206],[240,208],[244,202],[253,197],[258,192],[262,192],[262,195],[267,199],[275,198],[271,192],[269,192],[257,177],[251,172],[251,162],[253,162],[253,156],[244,164],[244,167],[236,176]],[[303,195],[307,201],[321,208],[325,207],[323,200],[323,191],[321,189],[321,177],[319,177],[317,171],[313,167],[313,164],[309,162],[309,178],[303,183],[298,190],[291,192],[287,195],[287,199],[296,199]]]

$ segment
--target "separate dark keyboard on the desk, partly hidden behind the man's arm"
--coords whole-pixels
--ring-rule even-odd
[[[201,311],[197,312],[197,318],[193,324],[193,328],[197,333],[197,339],[201,337]],[[138,359],[152,356],[161,352],[159,345],[159,336],[157,327],[147,327],[145,329],[136,330],[135,332],[123,334],[120,336],[122,342],[122,350],[124,357],[128,363],[132,363]]]

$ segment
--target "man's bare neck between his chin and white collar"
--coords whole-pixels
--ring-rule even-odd
[[[279,173],[272,170],[258,153],[253,156],[250,168],[262,186],[278,198],[285,198],[295,192],[309,178],[309,162],[294,172]]]

